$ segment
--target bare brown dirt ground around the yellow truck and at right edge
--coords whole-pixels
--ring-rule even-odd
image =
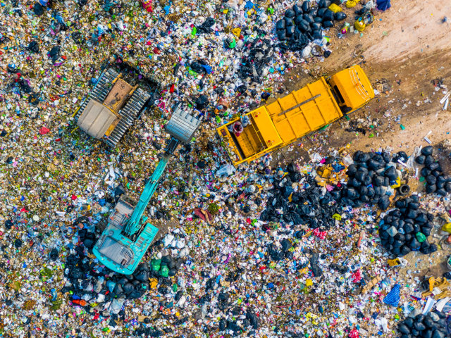
[[[348,22],[359,8],[346,10]],[[338,39],[339,27],[335,27],[330,32],[330,57],[323,62],[308,60],[288,73],[283,84],[286,90],[359,63],[380,94],[350,115],[349,121],[342,118],[276,151],[273,163],[299,157],[307,160],[314,152],[327,155],[347,144],[351,153],[390,147],[410,155],[415,146],[428,145],[424,137],[433,144],[451,139],[451,108],[443,111],[439,103],[446,89],[437,86],[443,83],[451,90],[451,20],[443,23],[445,16],[451,18],[451,1],[392,1],[392,8],[377,12],[362,36],[348,32]],[[417,187],[413,184],[413,190]],[[433,233],[431,242],[443,238],[443,233]],[[428,258],[419,253],[406,256],[409,263],[400,269],[405,282],[415,276],[440,276],[447,270],[450,246],[440,243],[442,250]]]

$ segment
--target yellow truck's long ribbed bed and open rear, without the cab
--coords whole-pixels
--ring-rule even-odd
[[[342,117],[326,80],[307,84],[268,106],[246,114],[250,124],[239,136],[228,130],[236,120],[218,128],[233,165],[250,162],[270,151],[295,142],[309,132],[318,130]]]

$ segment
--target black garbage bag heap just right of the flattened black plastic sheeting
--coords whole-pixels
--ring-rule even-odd
[[[377,204],[381,210],[390,205],[388,187],[396,183],[398,173],[388,153],[364,153],[356,151],[354,164],[347,167],[347,184],[335,187],[331,192],[335,200],[357,208],[364,204]]]

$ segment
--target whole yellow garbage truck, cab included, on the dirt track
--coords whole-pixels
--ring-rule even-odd
[[[307,84],[217,129],[233,165],[248,163],[361,108],[374,91],[359,65]]]

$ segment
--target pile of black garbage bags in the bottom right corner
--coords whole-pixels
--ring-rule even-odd
[[[402,320],[397,330],[400,338],[445,338],[447,334],[446,315],[440,311],[419,314]]]

